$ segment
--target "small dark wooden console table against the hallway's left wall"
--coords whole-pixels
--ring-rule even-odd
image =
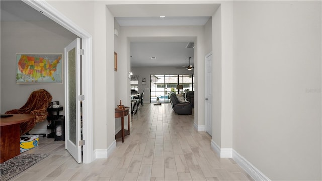
[[[130,134],[130,116],[129,116],[129,107],[124,107],[124,109],[118,109],[115,108],[115,118],[121,118],[121,131],[119,131],[116,135],[115,135],[115,139],[117,138],[121,138],[122,137],[122,143],[124,143],[124,137],[126,135]],[[124,116],[127,116],[127,127],[128,129],[124,129]]]

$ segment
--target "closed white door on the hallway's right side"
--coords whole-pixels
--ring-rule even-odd
[[[212,136],[212,53],[206,55],[205,58],[206,72],[206,132]]]

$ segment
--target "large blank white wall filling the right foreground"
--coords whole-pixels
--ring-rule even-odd
[[[321,1],[233,10],[233,149],[272,180],[321,180]]]

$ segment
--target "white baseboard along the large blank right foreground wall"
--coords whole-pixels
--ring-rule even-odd
[[[265,176],[260,170],[258,170],[254,165],[247,161],[243,156],[232,150],[232,159],[243,168],[254,180],[269,181],[270,179]]]

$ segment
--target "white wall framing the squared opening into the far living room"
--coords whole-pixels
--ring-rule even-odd
[[[200,86],[201,95],[203,95],[204,99],[204,26],[121,26],[119,34],[118,65],[122,68],[118,70],[116,77],[122,81],[115,82],[115,100],[122,100],[122,103],[124,102],[125,105],[130,105],[130,97],[127,96],[130,95],[130,79],[128,78],[128,72],[131,71],[130,40],[137,37],[143,39],[146,37],[155,38],[155,40],[169,37],[187,37],[195,41],[195,94],[198,94],[198,86]],[[201,72],[201,76],[197,76],[197,71]],[[125,82],[125,79],[127,79],[127,82]],[[204,102],[198,103],[198,99],[195,100],[195,123],[197,125],[205,125],[204,113],[198,113],[198,109],[204,110]],[[115,104],[117,104],[117,102],[115,102]]]

